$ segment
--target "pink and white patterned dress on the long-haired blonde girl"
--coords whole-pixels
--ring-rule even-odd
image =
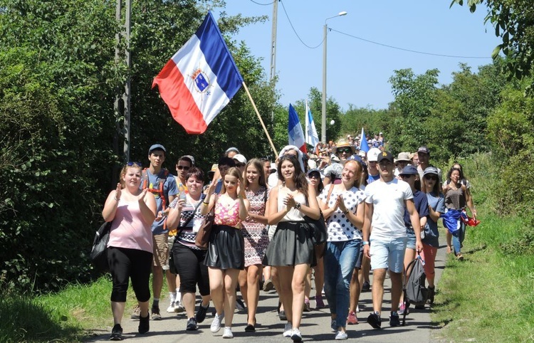
[[[256,193],[246,191],[246,198],[251,203],[248,213],[257,214],[258,216],[265,214],[266,190],[266,187],[261,186]],[[245,267],[261,265],[261,260],[263,260],[263,255],[265,255],[265,250],[269,243],[267,226],[258,223],[250,216],[242,224],[241,231],[245,239]]]

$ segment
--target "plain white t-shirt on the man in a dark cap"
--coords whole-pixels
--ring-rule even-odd
[[[407,182],[382,179],[365,187],[365,202],[373,204],[371,239],[406,237],[404,201],[414,194]]]

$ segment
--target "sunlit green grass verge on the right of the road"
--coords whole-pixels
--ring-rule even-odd
[[[462,163],[462,162],[461,162]],[[481,224],[467,228],[459,262],[449,255],[433,307],[439,342],[534,342],[534,255],[503,253],[525,228],[499,216],[491,188],[498,168],[484,156],[464,161]],[[445,231],[441,231],[444,235]]]

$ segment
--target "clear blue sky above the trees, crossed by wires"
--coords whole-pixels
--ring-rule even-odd
[[[486,8],[474,14],[466,6],[451,0],[283,0],[278,2],[278,37],[276,72],[281,103],[305,99],[311,87],[323,88],[323,41],[325,19],[340,11],[346,16],[328,20],[327,94],[343,110],[352,104],[376,110],[386,108],[393,100],[388,79],[394,70],[412,68],[414,73],[437,68],[439,82],[451,83],[451,73],[459,70],[459,63],[467,63],[473,72],[479,65],[491,63],[491,52],[500,43],[491,24],[483,23]],[[259,4],[268,4],[262,6]],[[282,6],[283,4],[283,6]],[[290,26],[284,7],[293,23]],[[267,15],[266,23],[247,26],[234,36],[245,41],[254,56],[263,58],[266,77],[269,75],[272,0],[227,0],[226,9],[214,9],[229,15]],[[342,33],[336,32],[340,31]],[[357,36],[388,46],[450,56],[484,58],[447,58],[410,53],[352,38]]]

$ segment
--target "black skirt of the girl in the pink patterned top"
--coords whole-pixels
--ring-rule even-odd
[[[214,225],[209,236],[208,252],[204,259],[208,267],[219,269],[245,268],[245,241],[239,228]]]

